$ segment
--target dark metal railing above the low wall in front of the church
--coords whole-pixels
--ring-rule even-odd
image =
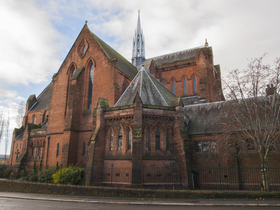
[[[28,177],[32,168],[19,167],[14,170],[11,166],[0,165],[2,172],[10,168],[13,179]],[[132,186],[138,182],[137,187],[165,188],[165,189],[207,189],[207,190],[261,190],[262,170],[267,171],[270,190],[280,191],[280,167],[196,167],[188,168],[187,180],[182,177],[180,165],[173,167],[146,167],[140,171],[131,168],[111,167],[85,168],[84,179],[87,173],[92,173],[91,185],[106,186]],[[0,177],[1,178],[1,177]]]

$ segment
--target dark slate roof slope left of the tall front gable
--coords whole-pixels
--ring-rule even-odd
[[[38,111],[42,109],[48,109],[51,96],[52,96],[52,82],[40,93],[37,98],[37,102],[34,104],[33,107],[29,111]]]

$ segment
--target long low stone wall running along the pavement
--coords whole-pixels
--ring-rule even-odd
[[[155,190],[139,188],[43,184],[0,179],[1,192],[138,198],[280,198],[280,192]]]

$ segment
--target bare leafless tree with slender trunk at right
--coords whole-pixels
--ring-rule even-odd
[[[220,126],[217,148],[228,157],[253,147],[261,160],[262,187],[269,190],[268,154],[280,137],[280,58],[264,65],[264,56],[252,59],[244,70],[231,71],[223,81],[228,117]]]

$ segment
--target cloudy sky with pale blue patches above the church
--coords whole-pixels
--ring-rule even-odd
[[[207,38],[226,75],[264,53],[268,63],[279,57],[279,6],[278,0],[1,0],[0,110],[10,113],[9,139],[19,103],[51,81],[85,20],[130,60],[141,10],[147,58],[197,47]],[[4,147],[2,139],[0,154]]]

